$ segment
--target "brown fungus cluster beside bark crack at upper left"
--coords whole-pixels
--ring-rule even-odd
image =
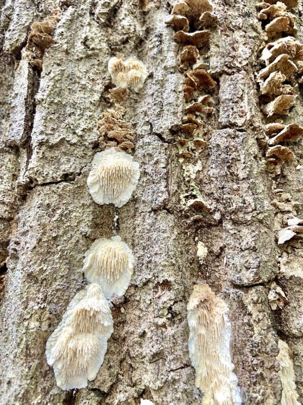
[[[32,66],[42,69],[42,59],[45,49],[55,44],[55,40],[51,37],[52,33],[61,19],[61,10],[56,8],[40,22],[34,22],[31,25],[27,44],[25,47],[25,56]]]

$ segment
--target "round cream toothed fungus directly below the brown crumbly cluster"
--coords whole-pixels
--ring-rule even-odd
[[[87,185],[94,202],[120,208],[130,199],[139,177],[139,163],[126,152],[110,148],[94,155]]]

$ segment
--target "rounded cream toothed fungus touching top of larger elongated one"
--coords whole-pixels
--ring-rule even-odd
[[[85,252],[83,271],[90,283],[100,284],[105,297],[121,297],[134,272],[134,256],[120,236],[97,239]]]

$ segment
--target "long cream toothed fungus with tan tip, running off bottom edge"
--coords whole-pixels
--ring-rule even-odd
[[[240,404],[238,380],[230,355],[228,306],[207,284],[195,285],[187,304],[187,321],[190,327],[188,349],[196,370],[196,386],[204,391],[202,403]]]

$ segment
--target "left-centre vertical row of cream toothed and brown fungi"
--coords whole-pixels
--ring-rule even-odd
[[[128,87],[138,92],[147,71],[136,57],[124,61],[121,55],[109,60],[108,70],[115,102],[98,122],[102,151],[93,157],[87,185],[94,202],[120,208],[136,189],[140,168],[125,151],[134,149],[135,133],[117,101],[128,97]],[[91,284],[74,296],[46,343],[47,362],[62,390],[84,388],[96,378],[113,331],[110,301],[125,294],[133,266],[134,256],[119,235],[97,239],[85,252],[82,271]]]

